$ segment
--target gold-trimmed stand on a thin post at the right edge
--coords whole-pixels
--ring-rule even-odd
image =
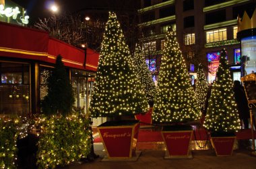
[[[243,76],[241,78],[245,93],[248,100],[248,107],[250,109],[250,119],[251,119],[251,136],[252,136],[252,144],[253,144],[253,152],[252,155],[256,156],[255,150],[255,137],[254,137],[254,129],[253,126],[255,125],[255,119],[253,115],[253,108],[256,109],[256,73],[248,74],[247,76]]]

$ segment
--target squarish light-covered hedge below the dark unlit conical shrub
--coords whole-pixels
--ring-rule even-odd
[[[83,115],[44,117],[38,123],[38,168],[55,168],[77,162],[90,154],[89,120]]]

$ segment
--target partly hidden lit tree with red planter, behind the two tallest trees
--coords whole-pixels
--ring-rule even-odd
[[[135,52],[133,54],[133,62],[135,65],[135,71],[141,82],[142,89],[146,95],[148,104],[150,105],[150,110],[146,113],[140,113],[135,115],[135,119],[138,119],[141,123],[140,125],[150,125],[152,124],[152,109],[154,105],[154,95],[156,93],[156,86],[152,78],[152,74],[145,62],[145,56],[141,46],[136,45]]]

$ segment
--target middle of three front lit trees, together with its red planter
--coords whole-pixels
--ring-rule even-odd
[[[189,143],[193,130],[186,123],[199,115],[194,96],[176,33],[168,30],[152,115],[153,121],[164,125],[162,137],[168,152],[165,158],[192,157]]]

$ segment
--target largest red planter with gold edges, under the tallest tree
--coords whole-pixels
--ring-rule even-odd
[[[137,156],[135,149],[139,121],[107,121],[97,127],[108,159],[129,159]]]

